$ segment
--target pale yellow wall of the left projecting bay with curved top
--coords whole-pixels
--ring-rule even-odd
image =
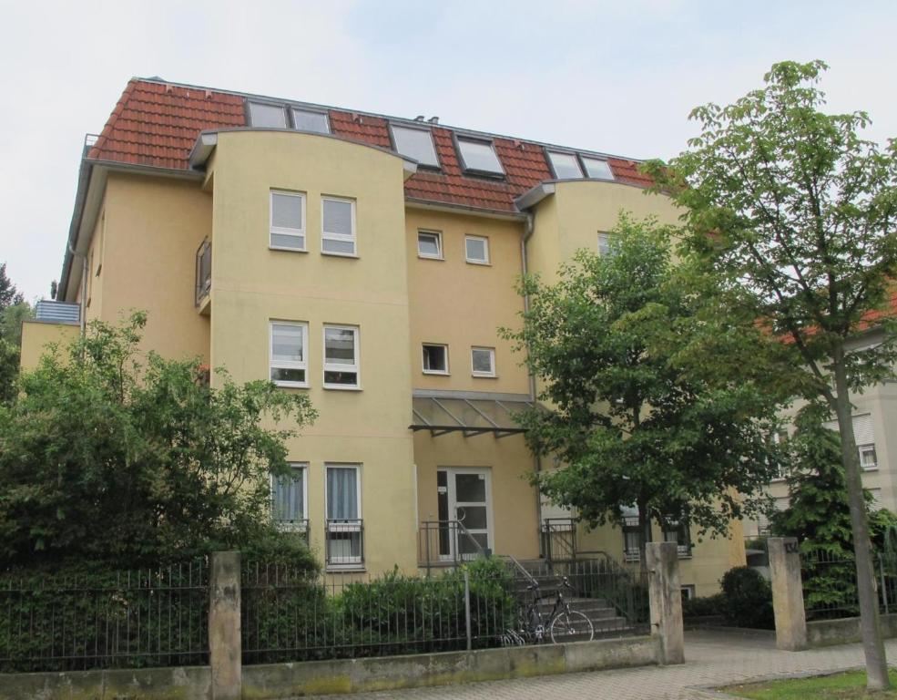
[[[310,464],[312,546],[324,527],[324,464],[362,464],[365,563],[416,571],[403,162],[301,133],[219,135],[214,162],[211,362],[269,376],[270,319],[309,324],[309,389],[321,416],[289,443]],[[269,249],[270,190],[306,194],[308,252]],[[321,195],[356,202],[357,258],[321,254]],[[322,388],[323,324],[360,329],[360,391]]]

